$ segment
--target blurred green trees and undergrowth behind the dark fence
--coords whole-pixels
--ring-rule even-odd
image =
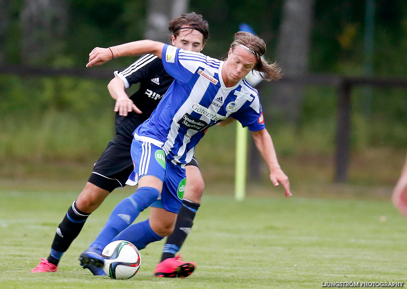
[[[171,18],[195,11],[210,24],[211,37],[203,52],[212,57],[227,55],[233,34],[245,22],[265,40],[266,57],[276,59],[286,75],[405,79],[405,1],[373,3],[370,73],[365,69],[365,0],[2,0],[0,65],[84,67],[95,46],[154,35],[163,40]],[[115,59],[105,68],[120,70],[135,59]],[[87,178],[114,135],[114,101],[107,82],[62,75],[22,77],[12,70],[0,74],[1,175]],[[398,178],[407,148],[406,92],[405,88],[352,90],[351,182],[393,184]],[[335,88],[265,83],[260,96],[267,128],[291,180],[331,181]],[[234,126],[211,129],[197,155],[206,180],[232,182]],[[267,180],[264,168],[260,175]]]

